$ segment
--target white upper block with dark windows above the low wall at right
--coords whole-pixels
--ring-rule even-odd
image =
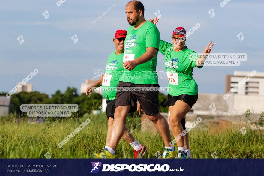
[[[251,72],[234,71],[234,75],[226,75],[225,93],[235,88],[234,94],[240,95],[264,95],[264,72],[256,72],[245,84],[237,88],[238,83]]]

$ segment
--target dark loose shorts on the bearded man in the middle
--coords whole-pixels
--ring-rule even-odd
[[[134,84],[131,82],[120,81],[119,88],[152,88],[159,89],[158,84]],[[137,106],[137,101],[146,115],[155,115],[159,113],[159,91],[117,91],[116,107],[124,105]]]

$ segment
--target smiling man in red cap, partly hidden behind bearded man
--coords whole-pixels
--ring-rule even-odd
[[[105,72],[101,78],[92,86],[86,90],[86,95],[93,91],[93,88],[102,86],[104,97],[107,99],[107,118],[108,118],[108,132],[105,150],[99,154],[92,154],[94,158],[113,158],[113,155],[109,153],[109,140],[111,135],[112,124],[114,121],[115,104],[116,104],[116,91],[114,90],[119,83],[120,77],[123,75],[123,56],[124,56],[124,41],[127,35],[125,30],[117,30],[113,42],[116,46],[116,51],[112,52],[107,60]],[[108,89],[111,89],[109,91]],[[112,91],[113,90],[113,91]],[[129,112],[135,112],[136,106],[132,106]],[[141,145],[134,136],[131,134],[127,127],[124,127],[125,131],[122,134],[122,139],[128,142],[134,148],[135,158],[141,158],[147,151],[147,148]],[[111,151],[111,149],[110,149]]]

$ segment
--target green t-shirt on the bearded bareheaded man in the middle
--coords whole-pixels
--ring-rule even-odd
[[[137,30],[130,26],[124,43],[123,64],[142,56],[148,47],[159,49],[159,40],[160,32],[152,22],[145,22]],[[124,68],[124,74],[121,76],[120,81],[134,84],[158,84],[157,57],[158,52],[150,61],[137,65],[132,71]]]

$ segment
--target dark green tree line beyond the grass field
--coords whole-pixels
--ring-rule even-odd
[[[7,92],[2,92],[0,95],[6,95]],[[20,105],[22,104],[78,104],[80,115],[85,113],[91,113],[92,110],[97,110],[102,105],[102,96],[98,93],[92,92],[91,97],[87,97],[86,94],[78,94],[76,88],[67,87],[63,93],[57,90],[55,94],[50,97],[48,94],[34,92],[19,92],[13,94],[11,97],[11,113],[17,115],[23,115],[20,111]],[[159,105],[161,112],[168,112],[167,96],[159,93]],[[135,113],[136,115],[136,113]]]

